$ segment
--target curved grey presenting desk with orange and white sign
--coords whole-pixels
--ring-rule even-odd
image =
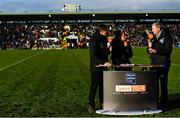
[[[97,67],[102,67],[98,65]],[[115,71],[113,68],[132,67],[132,71]],[[121,64],[103,72],[104,103],[98,114],[143,115],[160,113],[158,79],[156,71],[163,65]],[[134,69],[138,68],[138,69]],[[138,70],[138,71],[137,71]]]

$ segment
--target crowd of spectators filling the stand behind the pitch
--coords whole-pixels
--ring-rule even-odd
[[[146,29],[151,24],[107,23],[110,34],[123,30],[133,47],[147,45]],[[4,24],[0,26],[0,49],[87,48],[90,36],[98,24]],[[180,46],[180,24],[166,24],[173,37],[174,46]],[[71,37],[71,38],[70,38]],[[56,38],[58,40],[41,40]]]

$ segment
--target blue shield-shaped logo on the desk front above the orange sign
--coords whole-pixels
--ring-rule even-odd
[[[127,72],[125,74],[125,82],[127,84],[136,84],[136,74],[132,72]]]

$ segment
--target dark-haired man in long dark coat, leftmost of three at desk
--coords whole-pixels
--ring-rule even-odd
[[[88,112],[95,111],[95,95],[99,88],[100,107],[103,105],[103,71],[111,64],[108,62],[109,49],[107,47],[108,27],[100,25],[90,39],[90,70],[91,85],[89,90]],[[101,65],[102,67],[97,67]]]

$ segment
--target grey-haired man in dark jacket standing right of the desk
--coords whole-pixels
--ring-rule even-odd
[[[164,65],[162,68],[155,68],[160,79],[161,97],[159,108],[167,109],[168,101],[168,72],[171,64],[170,55],[172,52],[172,38],[167,28],[163,28],[162,24],[155,22],[152,24],[152,32],[155,39],[152,42],[152,47],[148,47],[150,53],[151,64]]]

